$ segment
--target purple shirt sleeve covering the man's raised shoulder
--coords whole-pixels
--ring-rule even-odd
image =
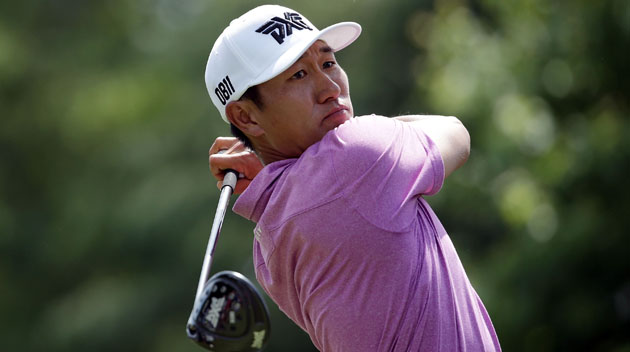
[[[437,146],[408,123],[361,116],[327,137],[345,198],[376,226],[403,231],[414,218],[417,198],[442,187],[444,165]]]

